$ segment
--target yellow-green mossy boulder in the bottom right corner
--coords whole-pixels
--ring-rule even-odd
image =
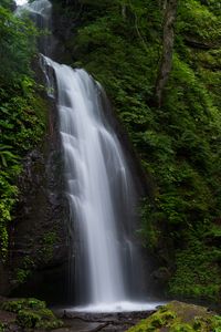
[[[207,308],[172,301],[128,332],[221,332],[221,317]]]

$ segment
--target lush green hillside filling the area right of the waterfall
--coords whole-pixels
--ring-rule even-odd
[[[169,280],[167,293],[220,301],[220,4],[179,1],[172,71],[158,108],[161,2],[55,1],[55,11],[71,27],[61,32],[70,63],[105,86],[148,175],[139,234]]]

